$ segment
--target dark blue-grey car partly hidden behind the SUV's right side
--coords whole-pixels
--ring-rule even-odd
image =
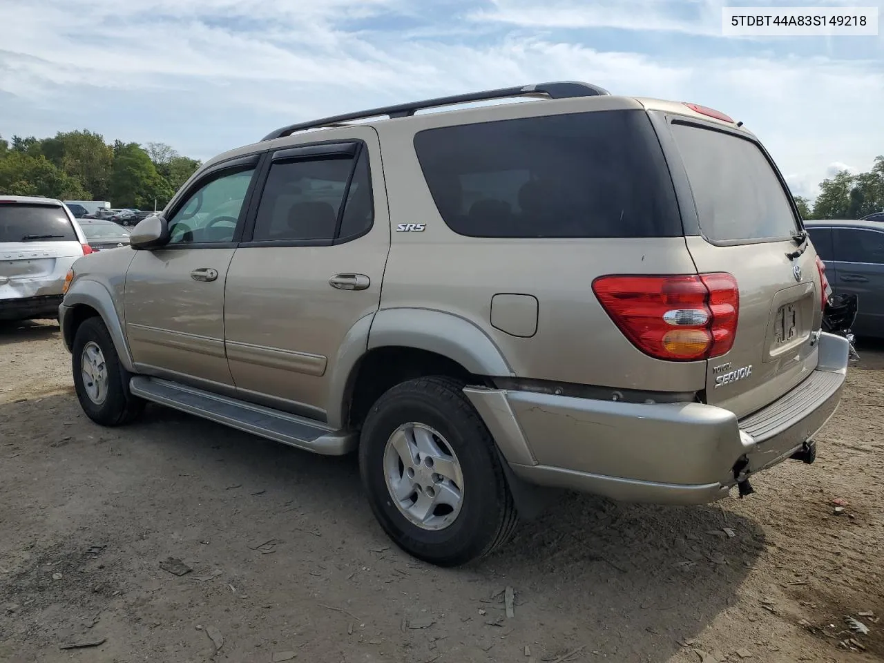
[[[884,225],[865,221],[805,221],[836,294],[856,294],[858,337],[884,338]]]

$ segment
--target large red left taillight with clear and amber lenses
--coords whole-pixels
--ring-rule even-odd
[[[734,345],[740,291],[730,274],[608,276],[592,291],[614,324],[645,354],[690,362]]]

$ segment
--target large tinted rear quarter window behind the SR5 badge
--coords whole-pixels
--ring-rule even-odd
[[[674,237],[672,180],[641,110],[446,126],[415,135],[446,224],[473,237]]]

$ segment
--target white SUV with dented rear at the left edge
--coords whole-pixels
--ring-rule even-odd
[[[0,195],[0,320],[57,317],[65,275],[91,251],[61,201]]]

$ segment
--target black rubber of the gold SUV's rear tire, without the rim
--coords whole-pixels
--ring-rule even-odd
[[[402,550],[441,567],[484,557],[506,543],[518,521],[497,447],[463,386],[449,377],[420,377],[392,387],[370,409],[359,447],[362,484],[381,527]],[[411,422],[438,431],[460,461],[461,512],[443,530],[409,522],[387,490],[387,440]]]

